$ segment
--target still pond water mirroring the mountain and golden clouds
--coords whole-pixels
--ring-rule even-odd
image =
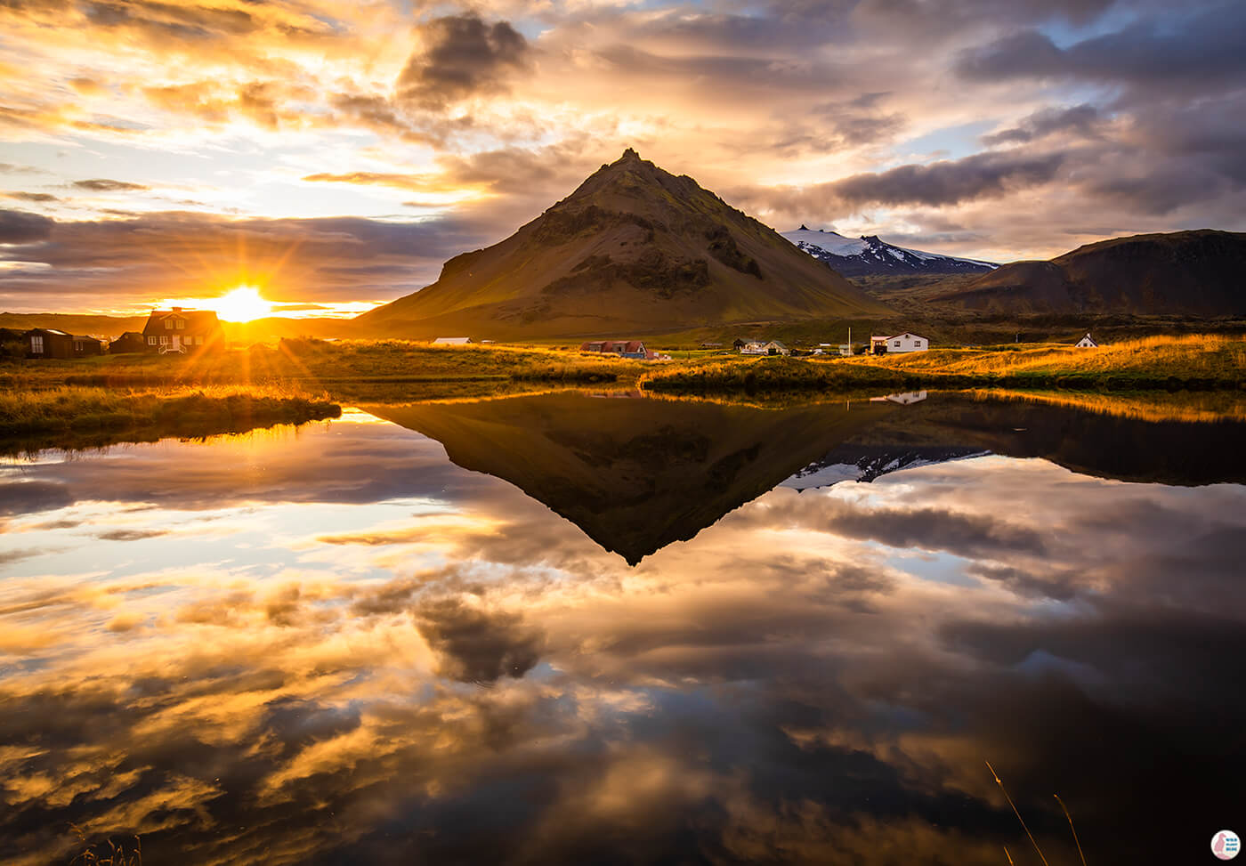
[[[0,860],[1038,864],[989,760],[1052,866],[1053,794],[1209,862],[1244,431],[562,394],[9,459]]]

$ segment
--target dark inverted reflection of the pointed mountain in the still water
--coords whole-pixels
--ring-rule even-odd
[[[459,466],[510,481],[632,564],[692,538],[895,410],[581,394],[368,407],[436,439]]]

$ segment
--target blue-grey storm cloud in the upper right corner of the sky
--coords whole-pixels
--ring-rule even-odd
[[[1241,2],[1176,21],[1144,19],[1067,49],[1038,30],[1023,30],[963,55],[957,70],[977,80],[1074,77],[1158,90],[1222,91],[1241,86],[1246,76],[1244,31],[1246,5]]]

